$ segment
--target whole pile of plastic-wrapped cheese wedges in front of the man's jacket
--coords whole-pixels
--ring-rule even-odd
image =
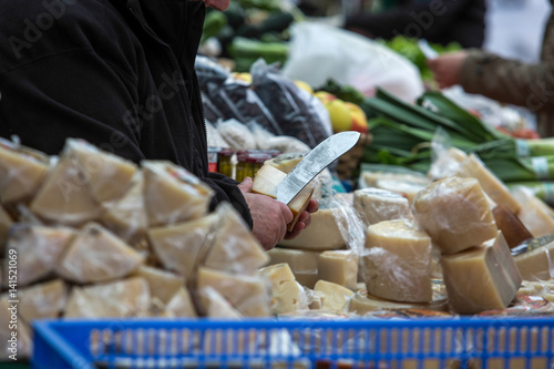
[[[208,212],[212,196],[170,162],[137,166],[79,140],[59,158],[1,142],[0,275],[16,298],[0,304],[19,300],[20,356],[40,318],[269,316],[268,255],[230,204]]]

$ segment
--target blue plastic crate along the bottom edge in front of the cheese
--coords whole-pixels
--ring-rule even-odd
[[[554,368],[554,318],[42,320],[32,368]]]

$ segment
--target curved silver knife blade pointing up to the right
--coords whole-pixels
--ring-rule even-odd
[[[324,140],[276,186],[277,199],[288,205],[316,175],[352,148],[360,135],[356,131],[346,131]]]

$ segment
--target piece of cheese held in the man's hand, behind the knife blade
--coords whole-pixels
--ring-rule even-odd
[[[264,164],[254,176],[252,192],[277,198],[277,185],[285,180],[286,176],[287,173],[279,171],[277,167]],[[288,230],[294,229],[301,213],[308,207],[312,194],[314,185],[309,183],[287,204],[294,215],[293,222],[287,225]]]

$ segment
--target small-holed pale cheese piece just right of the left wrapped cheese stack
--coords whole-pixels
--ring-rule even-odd
[[[288,264],[270,265],[261,268],[260,273],[271,283],[271,312],[284,314],[308,308],[306,293],[296,281]]]

